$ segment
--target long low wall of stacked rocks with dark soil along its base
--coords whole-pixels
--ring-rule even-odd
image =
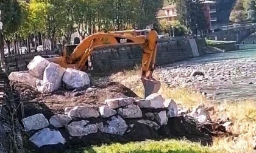
[[[23,118],[22,122],[24,131],[30,134],[29,140],[39,149],[55,144],[72,146],[79,142],[88,145],[160,137],[187,137],[204,144],[211,143],[211,133],[205,134],[197,128],[198,124],[203,126],[211,122],[204,104],[192,112],[182,110],[174,100],[152,94],[141,100],[130,97],[108,99],[101,107],[66,107],[62,114],[50,118],[34,114]],[[209,131],[218,133],[214,128]]]

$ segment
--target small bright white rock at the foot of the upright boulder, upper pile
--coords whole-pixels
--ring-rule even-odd
[[[44,82],[43,80],[35,81],[35,86],[37,87],[38,92],[43,94],[51,93],[54,91],[54,84]]]

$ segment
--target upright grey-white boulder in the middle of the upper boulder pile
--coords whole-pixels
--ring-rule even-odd
[[[57,90],[62,86],[62,77],[65,72],[63,67],[59,64],[49,63],[44,69],[43,81],[46,83],[52,83],[54,85],[53,90]]]

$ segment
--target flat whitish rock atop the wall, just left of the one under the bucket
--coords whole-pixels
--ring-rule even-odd
[[[105,104],[111,109],[117,109],[119,107],[127,106],[135,102],[134,98],[116,98],[105,100]]]

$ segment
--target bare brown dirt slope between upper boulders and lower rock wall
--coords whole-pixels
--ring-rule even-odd
[[[34,88],[17,82],[10,82],[12,89],[20,92],[22,101],[38,101],[44,103],[52,112],[63,112],[65,107],[104,105],[109,98],[138,97],[132,90],[120,83],[110,82],[94,84],[83,89],[60,89],[51,94],[41,94]]]

